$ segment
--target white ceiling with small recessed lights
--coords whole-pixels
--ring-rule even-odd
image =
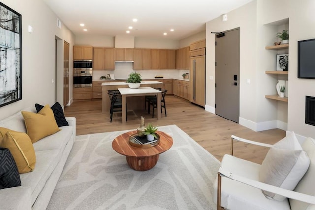
[[[128,27],[132,26],[130,36],[173,40],[205,31],[206,22],[250,1],[44,0],[75,35],[127,35]],[[138,21],[133,22],[133,18]]]

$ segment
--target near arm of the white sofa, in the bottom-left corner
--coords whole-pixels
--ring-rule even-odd
[[[12,187],[0,190],[1,210],[32,210],[30,187]]]

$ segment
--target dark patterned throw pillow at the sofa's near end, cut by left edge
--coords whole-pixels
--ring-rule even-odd
[[[18,167],[9,149],[0,147],[0,189],[21,186]]]

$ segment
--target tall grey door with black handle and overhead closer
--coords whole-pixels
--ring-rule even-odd
[[[216,35],[216,108],[223,118],[239,122],[240,29]]]

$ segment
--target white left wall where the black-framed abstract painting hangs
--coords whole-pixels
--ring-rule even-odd
[[[62,29],[57,27],[57,16],[42,0],[1,2],[22,15],[22,100],[1,107],[0,119],[3,119],[35,103],[55,103],[55,83],[52,83],[55,78],[55,36],[70,43],[72,49],[74,35],[64,25]],[[28,25],[33,27],[33,33],[28,33]],[[70,60],[72,58],[70,51]],[[70,67],[72,69],[72,64]],[[58,85],[61,83],[63,80],[57,81]],[[63,98],[63,92],[57,95]],[[63,101],[59,102],[63,104]]]

